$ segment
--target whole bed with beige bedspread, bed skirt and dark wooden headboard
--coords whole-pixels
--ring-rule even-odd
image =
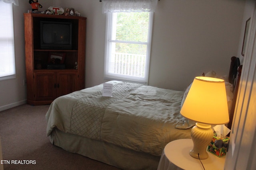
[[[240,80],[237,61],[232,57],[226,80],[232,94],[230,117]],[[190,138],[195,122],[180,115],[189,88],[182,92],[120,81],[108,83],[113,85],[112,97],[102,96],[100,84],[52,102],[46,113],[50,142],[121,169],[157,169],[166,144]]]

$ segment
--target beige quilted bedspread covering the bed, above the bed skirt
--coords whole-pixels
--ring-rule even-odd
[[[176,129],[184,92],[110,81],[112,97],[103,85],[54,100],[46,113],[47,135],[54,128],[127,149],[160,156],[165,145],[190,138],[191,129]]]

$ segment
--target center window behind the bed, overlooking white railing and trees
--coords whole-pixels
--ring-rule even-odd
[[[148,84],[153,12],[108,12],[104,78]]]

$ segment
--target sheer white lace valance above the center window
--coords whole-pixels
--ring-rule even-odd
[[[158,0],[102,0],[102,13],[154,12]]]

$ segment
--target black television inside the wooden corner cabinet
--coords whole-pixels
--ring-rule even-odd
[[[41,49],[72,49],[72,23],[40,21]]]

